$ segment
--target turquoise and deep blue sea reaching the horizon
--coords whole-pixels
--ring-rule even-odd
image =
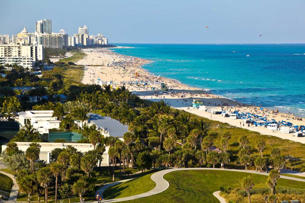
[[[155,75],[305,117],[305,44],[116,44]],[[249,57],[246,55],[249,54]]]

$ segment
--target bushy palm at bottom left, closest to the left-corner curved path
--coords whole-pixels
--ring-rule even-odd
[[[27,193],[27,202],[30,203],[32,194],[37,190],[37,182],[34,174],[25,175],[18,180],[19,189]]]

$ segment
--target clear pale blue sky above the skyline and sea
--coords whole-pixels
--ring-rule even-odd
[[[73,36],[86,25],[109,44],[305,43],[304,8],[304,0],[0,0],[0,34],[51,19],[53,32]]]

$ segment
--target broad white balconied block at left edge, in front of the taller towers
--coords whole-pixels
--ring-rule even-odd
[[[42,45],[0,44],[0,65],[16,64],[31,70],[36,62],[43,59]]]

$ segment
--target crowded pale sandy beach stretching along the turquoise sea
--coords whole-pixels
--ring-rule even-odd
[[[141,68],[143,64],[151,61],[142,58],[125,56],[111,51],[109,48],[83,49],[87,56],[78,61],[78,65],[84,65],[84,84],[110,84],[112,87],[125,85],[129,90],[142,99],[151,101],[164,100],[171,107],[188,111],[202,117],[221,121],[236,127],[257,131],[264,135],[273,135],[283,139],[305,143],[305,137],[296,137],[295,133],[284,134],[279,131],[268,130],[266,127],[255,127],[244,124],[241,119],[229,119],[222,115],[210,114],[206,111],[193,109],[192,99],[201,99],[207,108],[221,111],[239,110],[239,112],[251,112],[256,115],[267,117],[268,120],[287,121],[293,125],[305,125],[305,121],[295,120],[291,115],[274,114],[271,110],[259,110],[259,107],[242,104],[229,100],[223,96],[210,94],[204,90],[189,87],[181,82],[165,77],[155,76]],[[168,90],[161,90],[161,84],[167,85]],[[153,90],[154,89],[154,90]]]

